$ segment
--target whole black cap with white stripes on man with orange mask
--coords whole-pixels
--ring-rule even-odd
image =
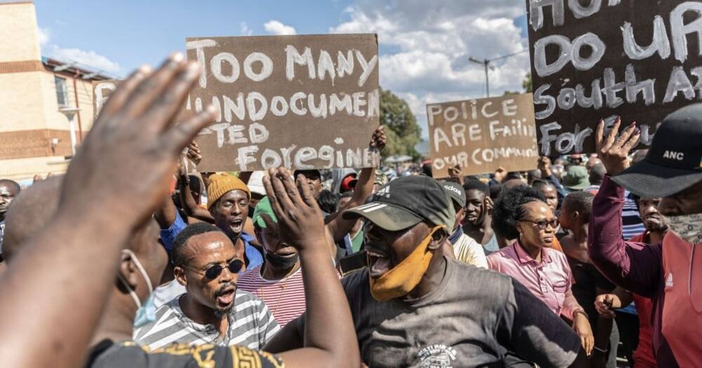
[[[364,205],[343,212],[344,219],[364,217],[388,231],[420,222],[453,228],[456,212],[444,186],[425,175],[400,177],[383,186]]]

